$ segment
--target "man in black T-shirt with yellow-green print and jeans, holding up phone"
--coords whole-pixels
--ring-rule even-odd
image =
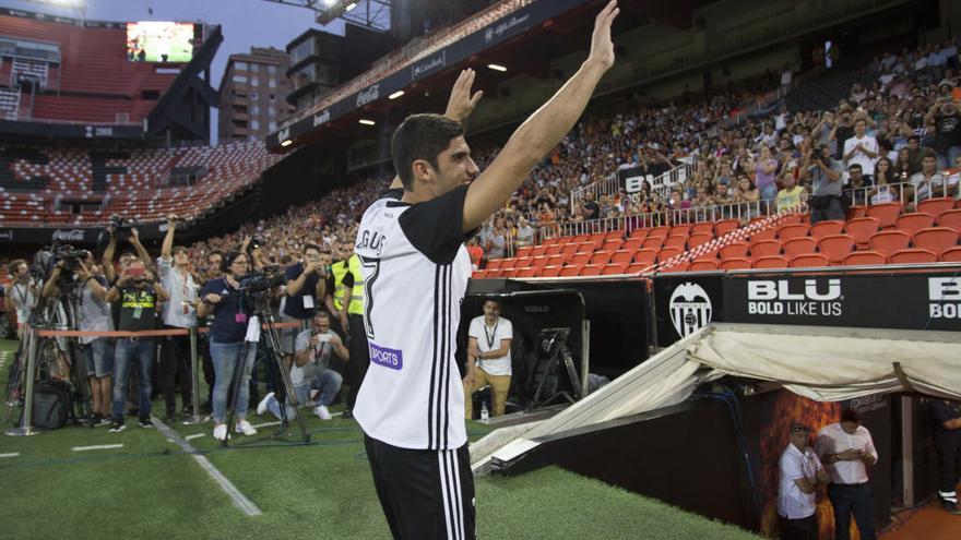
[[[120,274],[117,283],[107,291],[107,301],[120,305],[121,332],[142,332],[156,328],[157,302],[165,302],[169,295],[156,277],[144,267],[143,261],[133,259]],[[137,362],[140,383],[140,403],[137,408],[138,423],[141,428],[153,428],[151,421],[151,380],[150,372],[154,361],[155,343],[153,337],[120,337],[114,352],[114,405],[110,433],[123,431],[123,406],[127,400],[127,380],[130,363]]]

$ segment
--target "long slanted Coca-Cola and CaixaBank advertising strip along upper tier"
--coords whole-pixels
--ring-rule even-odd
[[[534,26],[568,10],[582,4],[583,0],[553,0],[550,2],[533,2],[489,25],[478,29],[430,56],[413,63],[410,69],[400,70],[370,86],[331,104],[322,113],[323,122],[316,122],[315,116],[308,116],[272,133],[266,137],[269,148],[276,148],[287,139],[297,137],[313,131],[318,125],[336,120],[366,106],[377,99],[387,97],[412,83],[438,73],[448,67],[458,65],[461,61],[484,49],[494,47],[507,39],[521,35]]]

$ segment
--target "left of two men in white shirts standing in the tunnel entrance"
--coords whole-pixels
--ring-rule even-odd
[[[791,442],[778,461],[781,480],[778,488],[778,515],[782,540],[816,540],[818,524],[815,499],[819,484],[828,483],[828,473],[818,455],[808,445],[810,428],[791,424]]]

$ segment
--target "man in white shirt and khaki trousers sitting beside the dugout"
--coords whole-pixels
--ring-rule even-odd
[[[467,420],[474,416],[471,396],[488,384],[494,394],[494,416],[503,415],[510,392],[513,337],[513,325],[500,316],[500,303],[497,300],[484,302],[484,314],[474,317],[467,329],[467,374],[464,376],[464,416]]]

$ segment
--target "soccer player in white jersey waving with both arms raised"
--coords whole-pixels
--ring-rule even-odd
[[[354,247],[370,348],[354,417],[394,538],[475,536],[464,395],[454,360],[471,276],[464,241],[580,118],[614,64],[610,24],[617,14],[616,1],[601,11],[580,70],[518,128],[483,173],[456,120],[414,115],[393,134],[403,192],[389,191],[370,205]],[[479,98],[471,96],[473,79],[471,70],[461,74],[453,109],[473,109]]]

